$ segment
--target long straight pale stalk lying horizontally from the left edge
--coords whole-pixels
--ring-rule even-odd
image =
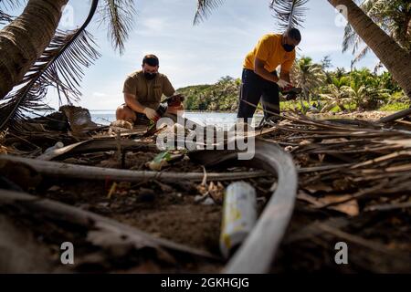
[[[45,162],[37,159],[22,158],[11,155],[0,155],[0,161],[20,162],[33,168],[40,174],[51,177],[65,177],[81,180],[106,179],[122,182],[141,182],[144,180],[158,180],[163,182],[193,181],[202,182],[204,173],[201,172],[145,172],[118,170],[95,166],[76,165],[62,162]],[[211,181],[244,180],[268,175],[267,172],[227,172],[207,173],[207,179]]]

